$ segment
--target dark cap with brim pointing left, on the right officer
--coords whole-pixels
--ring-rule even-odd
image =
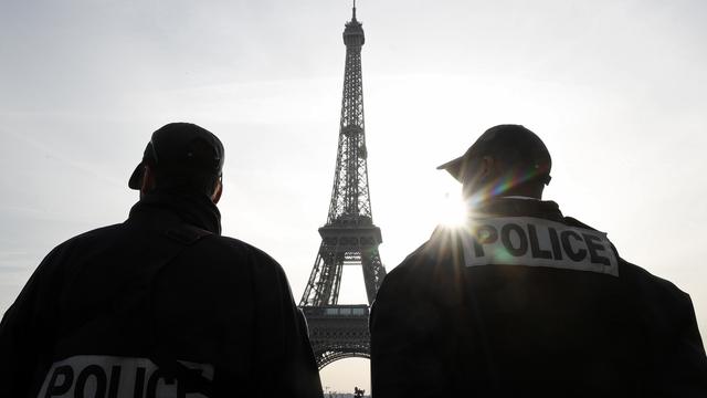
[[[550,182],[552,159],[548,148],[540,137],[520,125],[498,125],[487,129],[464,155],[437,169],[446,170],[462,182],[467,164],[484,156],[507,160],[514,166],[526,168],[531,178],[538,178],[546,185]]]

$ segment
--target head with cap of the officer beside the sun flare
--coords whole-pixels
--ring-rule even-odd
[[[520,125],[499,125],[437,169],[462,182],[466,199],[484,201],[514,195],[541,198],[551,166],[550,154],[535,133]]]

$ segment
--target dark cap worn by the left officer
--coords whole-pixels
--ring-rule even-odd
[[[223,144],[205,128],[191,123],[170,123],[152,133],[152,137],[130,179],[128,187],[140,189],[145,165],[162,170],[220,176],[223,169]]]

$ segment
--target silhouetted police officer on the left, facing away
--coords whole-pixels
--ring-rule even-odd
[[[281,266],[221,235],[223,146],[152,134],[127,221],[55,248],[0,324],[1,397],[320,397]]]

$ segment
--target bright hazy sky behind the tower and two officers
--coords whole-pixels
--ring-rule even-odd
[[[381,256],[420,245],[458,188],[435,166],[524,124],[553,157],[546,198],[673,281],[707,333],[707,2],[358,2]],[[0,312],[46,252],[127,217],[152,130],[226,148],[224,233],[270,252],[295,300],[326,221],[346,0],[0,0]],[[360,270],[341,298],[365,302]],[[368,387],[367,362],[324,384]],[[368,388],[367,388],[368,389]]]

